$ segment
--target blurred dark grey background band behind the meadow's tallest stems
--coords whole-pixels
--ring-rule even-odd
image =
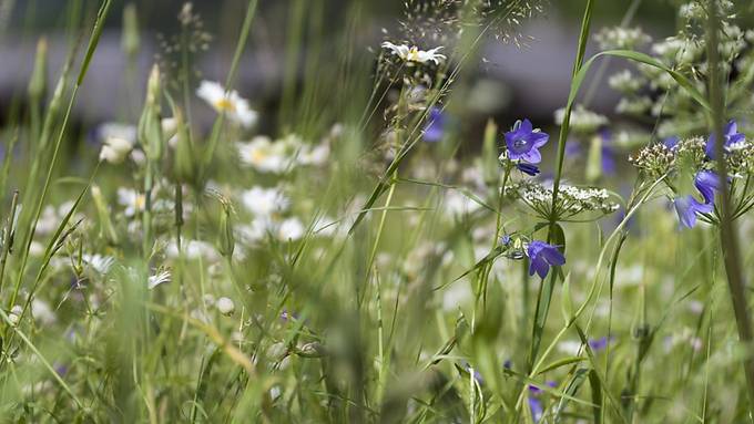
[[[286,58],[292,4],[316,0],[261,0],[238,74],[237,87],[263,113],[274,107],[281,96]],[[359,2],[366,25],[358,28],[357,45],[378,49],[383,29],[393,32],[401,18],[401,0],[319,0],[325,10],[324,54],[329,38],[337,38],[346,25],[347,10]],[[142,91],[129,89],[144,84],[149,68],[160,52],[159,34],[180,31],[177,14],[182,0],[134,0],[141,33],[135,80],[126,83],[126,58],[121,50],[122,10],[125,1],[113,2],[102,41],[89,72],[85,87],[77,104],[75,117],[102,122],[122,116],[124,104],[133,107],[142,102]],[[593,31],[615,25],[632,0],[598,1]],[[546,13],[526,22],[521,32],[531,38],[528,46],[506,45],[489,40],[483,61],[473,71],[472,91],[487,94],[477,106],[480,120],[489,115],[530,116],[551,123],[552,112],[562,106],[569,87],[581,13],[585,1],[550,0]],[[26,93],[33,66],[37,41],[44,37],[50,45],[50,84],[54,83],[70,46],[80,38],[81,29],[92,22],[95,0],[0,0],[0,110],[2,116]],[[212,34],[210,49],[197,55],[202,77],[223,81],[231,63],[238,30],[244,18],[244,0],[196,0],[193,10],[202,17],[203,28]],[[639,25],[653,38],[675,32],[674,7],[665,0],[640,2],[631,25]],[[590,43],[594,49],[593,43]],[[611,64],[622,66],[621,63]],[[617,102],[607,83],[598,90],[592,108],[610,115]]]

